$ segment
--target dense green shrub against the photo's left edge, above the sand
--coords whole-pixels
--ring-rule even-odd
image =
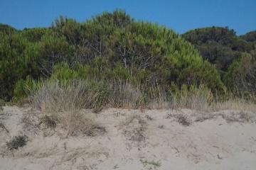
[[[25,55],[29,43],[22,35],[0,33],[0,39],[0,98],[10,100],[16,81],[31,73],[33,60]]]

